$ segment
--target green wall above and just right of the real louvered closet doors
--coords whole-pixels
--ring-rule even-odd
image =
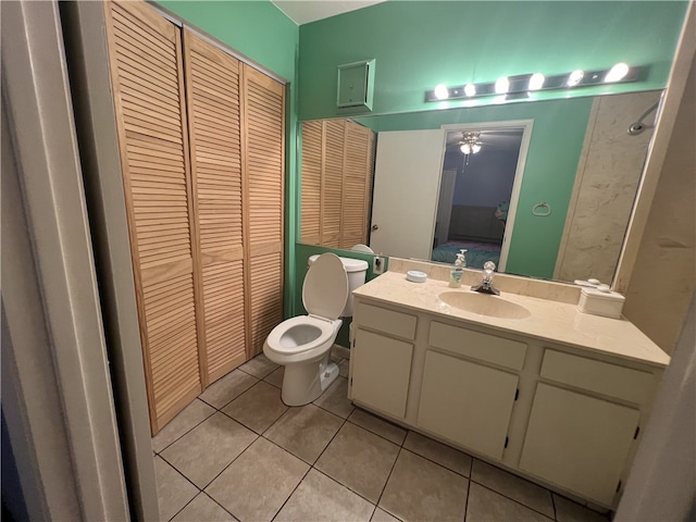
[[[285,78],[286,87],[286,204],[284,312],[295,315],[296,231],[299,200],[297,178],[297,71],[299,27],[273,3],[257,1],[158,2],[164,9],[214,36],[236,52]]]

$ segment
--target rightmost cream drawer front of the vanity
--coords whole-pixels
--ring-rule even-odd
[[[652,395],[652,374],[547,349],[542,377],[636,403]]]

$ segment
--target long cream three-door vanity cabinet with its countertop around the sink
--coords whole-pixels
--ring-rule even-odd
[[[476,321],[436,304],[446,283],[384,281],[353,294],[348,396],[357,406],[616,508],[669,361],[663,352],[627,321],[577,315],[570,304],[523,301],[550,325]],[[580,343],[598,338],[607,341]],[[643,356],[631,357],[631,346]]]

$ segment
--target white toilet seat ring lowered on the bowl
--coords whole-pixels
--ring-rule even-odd
[[[300,328],[306,328],[306,333],[310,333],[312,328],[315,328],[316,336],[302,340],[302,332]],[[296,332],[293,332],[293,331]],[[327,321],[324,319],[315,318],[313,315],[298,315],[283,321],[275,328],[271,331],[266,339],[266,347],[274,353],[281,356],[293,356],[304,353],[319,346],[322,346],[332,338],[335,334],[336,326],[334,321]],[[295,344],[299,340],[301,344]]]

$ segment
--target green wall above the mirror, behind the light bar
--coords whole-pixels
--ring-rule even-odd
[[[424,92],[440,83],[621,61],[647,66],[645,77],[576,92],[660,89],[685,10],[684,1],[387,1],[300,26],[299,117],[338,115],[337,65],[372,58],[374,113],[434,109]],[[463,103],[437,104],[452,105]]]

